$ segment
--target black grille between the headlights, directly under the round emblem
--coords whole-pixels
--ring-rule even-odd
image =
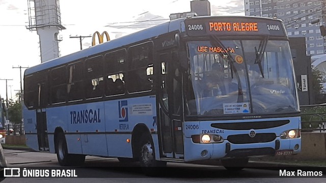
[[[256,134],[255,137],[250,137],[249,134],[240,134],[240,135],[229,135],[228,141],[234,144],[262,143],[262,142],[271,142],[275,138],[276,138],[275,133],[260,133],[260,134]]]

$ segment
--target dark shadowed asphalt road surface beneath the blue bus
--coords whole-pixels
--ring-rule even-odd
[[[5,149],[9,167],[60,169],[55,154]],[[326,175],[314,178],[282,178],[280,169],[246,168],[238,172],[227,171],[222,166],[168,163],[168,168],[157,169],[160,175],[148,177],[138,163],[123,164],[116,158],[87,157],[83,167],[73,167],[79,177],[96,178],[6,178],[3,182],[326,182]],[[302,169],[300,167],[294,168]],[[325,172],[323,172],[325,173]]]

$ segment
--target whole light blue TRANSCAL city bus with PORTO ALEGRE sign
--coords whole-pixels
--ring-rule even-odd
[[[300,153],[294,76],[281,20],[169,21],[26,69],[26,144],[62,166],[94,155],[241,169]]]

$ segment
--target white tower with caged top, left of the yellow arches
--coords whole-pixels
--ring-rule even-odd
[[[59,57],[61,24],[59,0],[28,0],[30,31],[40,37],[41,62]]]

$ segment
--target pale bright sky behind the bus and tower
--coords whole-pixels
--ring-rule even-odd
[[[61,56],[80,50],[79,39],[106,31],[111,40],[168,21],[171,13],[190,11],[191,0],[61,0]],[[244,15],[243,0],[210,0],[211,15]],[[143,23],[134,21],[155,20]],[[156,21],[159,20],[159,21]],[[128,23],[126,23],[128,22]],[[39,37],[29,31],[28,0],[0,0],[0,79],[8,80],[8,98],[16,100],[20,72],[13,67],[32,67],[41,63]],[[83,49],[92,38],[84,38]],[[22,77],[23,77],[22,69]],[[6,100],[6,81],[0,80],[0,95]]]

